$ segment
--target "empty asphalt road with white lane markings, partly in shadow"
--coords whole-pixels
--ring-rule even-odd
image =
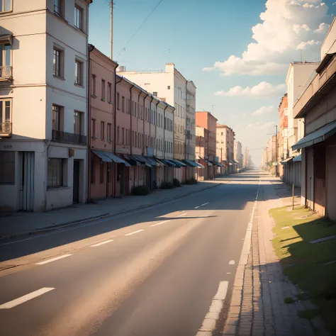
[[[0,245],[0,267],[8,268],[0,271],[1,335],[211,335],[200,329],[216,335],[230,303],[258,173]]]

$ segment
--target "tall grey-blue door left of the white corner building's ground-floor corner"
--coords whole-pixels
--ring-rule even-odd
[[[33,211],[34,206],[34,152],[18,152],[20,173],[19,211]]]

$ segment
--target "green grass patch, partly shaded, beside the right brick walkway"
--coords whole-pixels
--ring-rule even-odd
[[[300,317],[320,314],[336,335],[336,264],[325,264],[336,260],[336,240],[309,243],[336,235],[336,223],[303,207],[292,211],[285,206],[269,213],[276,222],[273,245],[284,274],[319,307],[318,311],[303,310]]]

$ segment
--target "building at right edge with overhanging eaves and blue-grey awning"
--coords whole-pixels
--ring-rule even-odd
[[[320,215],[336,220],[336,19],[320,50],[321,62],[293,106],[304,119],[303,138],[292,145],[301,150],[301,201]]]

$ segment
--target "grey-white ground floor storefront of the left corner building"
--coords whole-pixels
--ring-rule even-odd
[[[0,143],[1,211],[50,211],[86,202],[85,146],[43,140]]]

